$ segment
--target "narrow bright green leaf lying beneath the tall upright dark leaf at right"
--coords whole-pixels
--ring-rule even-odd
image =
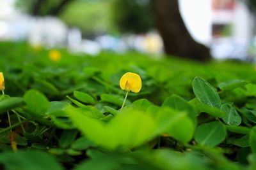
[[[225,112],[223,110],[220,110],[219,108],[213,108],[204,103],[200,103],[197,97],[189,101],[189,104],[191,104],[191,106],[194,106],[197,110],[199,110],[200,113],[205,112],[211,115],[212,117],[218,117],[218,118],[225,116]]]

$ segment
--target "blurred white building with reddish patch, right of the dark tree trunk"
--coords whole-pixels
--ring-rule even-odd
[[[216,58],[244,58],[253,38],[253,16],[239,0],[179,0],[180,11],[196,41]]]

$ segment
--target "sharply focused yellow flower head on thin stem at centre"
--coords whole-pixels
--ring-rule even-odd
[[[141,89],[141,78],[136,73],[125,73],[122,78],[120,79],[120,87],[121,89],[127,92],[134,92],[138,93]]]

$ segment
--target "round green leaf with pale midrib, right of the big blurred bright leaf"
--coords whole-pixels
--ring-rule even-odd
[[[209,122],[196,128],[195,141],[205,146],[216,146],[226,138],[227,132],[221,122]]]

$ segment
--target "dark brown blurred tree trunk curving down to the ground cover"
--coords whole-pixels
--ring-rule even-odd
[[[153,6],[166,54],[195,60],[211,59],[209,48],[197,43],[186,29],[178,0],[153,0]]]

